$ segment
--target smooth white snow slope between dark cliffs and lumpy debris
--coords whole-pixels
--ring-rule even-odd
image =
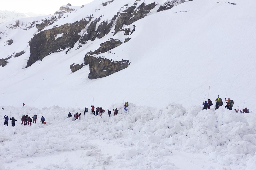
[[[98,55],[128,59],[131,65],[102,79],[89,80],[88,65],[71,74],[69,65],[82,63],[87,49],[98,48],[108,36],[87,43],[81,50],[71,49],[67,55],[51,54],[29,69],[21,69],[26,65],[28,53],[11,58],[9,67],[0,70],[6,75],[1,77],[2,105],[17,106],[24,102],[36,107],[82,107],[92,104],[94,98],[94,102],[103,105],[128,100],[153,107],[170,102],[188,107],[201,105],[211,86],[209,98],[213,101],[217,95],[224,99],[228,93],[227,97],[235,102],[234,108],[243,107],[246,101],[245,107],[253,110],[255,32],[251,28],[255,24],[250,22],[254,18],[250,7],[253,3],[191,1],[133,23],[136,30],[129,36],[130,41]],[[248,10],[244,11],[245,8]],[[118,33],[113,38],[121,36]],[[20,69],[10,74],[13,68]]]

